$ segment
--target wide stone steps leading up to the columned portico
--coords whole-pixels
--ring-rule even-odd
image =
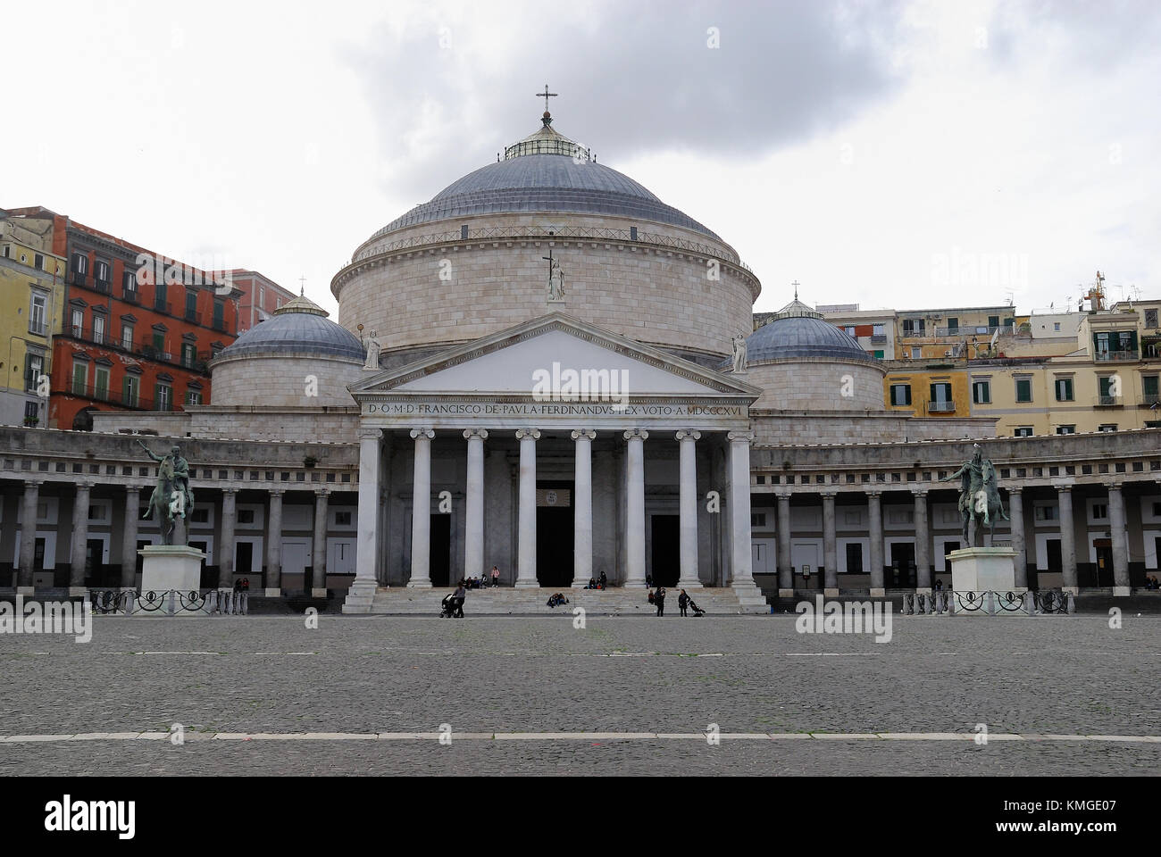
[[[363,599],[342,607],[344,613],[381,613],[390,615],[439,615],[440,602],[453,589],[406,589],[380,586],[369,605]],[[560,607],[549,607],[548,597],[560,592],[569,599]],[[665,615],[680,615],[677,607],[679,589],[666,589]],[[737,615],[740,613],[769,613],[765,597],[756,586],[737,589],[690,588],[686,592],[707,615]],[[633,589],[470,589],[463,604],[466,615],[565,615],[575,607],[583,607],[590,615],[652,615],[656,607],[649,604],[648,590]],[[690,611],[693,615],[693,611]]]

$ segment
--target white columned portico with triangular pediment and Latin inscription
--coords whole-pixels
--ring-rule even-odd
[[[348,611],[373,574],[374,585],[424,589],[493,564],[515,588],[584,586],[604,572],[611,585],[757,596],[748,409],[758,391],[745,383],[551,314],[369,376],[352,395],[363,596]],[[382,546],[395,539],[373,532],[380,503],[405,542],[390,555]]]

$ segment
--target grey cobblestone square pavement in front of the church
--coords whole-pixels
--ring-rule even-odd
[[[1155,773],[1161,743],[222,742],[199,733],[648,732],[1161,735],[1161,620],[895,617],[890,642],[794,617],[95,620],[2,635],[0,773]]]

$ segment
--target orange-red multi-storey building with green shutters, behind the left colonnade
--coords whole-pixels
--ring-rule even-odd
[[[92,428],[99,410],[180,411],[209,404],[208,361],[238,332],[240,290],[44,208],[52,250],[67,259],[52,347],[49,426]]]

